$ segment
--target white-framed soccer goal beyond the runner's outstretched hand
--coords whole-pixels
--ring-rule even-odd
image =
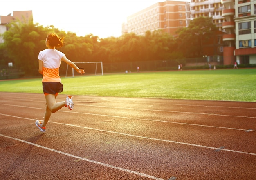
[[[103,65],[102,62],[74,62],[75,64],[81,64],[79,68],[85,69],[85,72],[88,72],[89,74],[94,73],[97,75],[97,73],[100,73],[103,75]],[[69,65],[67,64],[67,69],[66,69],[66,78],[67,77],[74,77],[74,68],[72,68],[72,72],[68,71]],[[72,73],[72,75],[71,75]]]

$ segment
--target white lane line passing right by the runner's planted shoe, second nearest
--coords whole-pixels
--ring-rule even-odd
[[[0,115],[11,116],[11,115],[5,115],[5,114],[1,114],[1,113],[0,113]],[[11,117],[28,119],[28,120],[35,120],[35,119],[18,117],[18,116],[11,116]],[[51,121],[48,121],[48,122],[51,122]],[[137,136],[137,135],[126,134],[126,133],[119,133],[119,132],[115,132],[115,131],[95,129],[95,128],[91,128],[91,127],[84,127],[84,126],[79,126],[79,125],[74,125],[74,124],[65,124],[65,123],[59,123],[59,122],[51,122],[51,123],[61,124],[61,125],[66,125],[66,126],[72,126],[72,127],[79,127],[79,128],[83,128],[83,129],[90,129],[90,130],[101,131],[101,132],[106,132],[106,133],[114,133],[114,134],[119,134],[119,135],[123,135],[123,136],[131,136],[131,137],[135,137],[135,138],[143,138],[143,139],[156,140],[156,141],[162,141],[162,142],[171,142],[171,143],[175,143],[175,144],[183,144],[183,145],[188,145],[188,146],[202,147],[202,148],[214,149],[214,150],[219,149],[219,150],[222,150],[222,151],[229,151],[229,152],[234,152],[234,153],[242,153],[242,154],[249,154],[249,155],[256,156],[256,153],[248,153],[248,152],[235,151],[235,150],[230,150],[230,149],[221,149],[221,148],[216,148],[216,147],[202,146],[202,145],[198,145],[198,144],[190,144],[190,143],[186,143],[186,142],[177,142],[177,141],[171,141],[171,140],[162,140],[162,139],[157,139],[157,138],[149,138],[149,137],[144,137],[144,136]]]

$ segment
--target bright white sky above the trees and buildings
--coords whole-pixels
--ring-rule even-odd
[[[126,18],[165,0],[4,0],[0,15],[32,10],[34,23],[85,36],[121,36]],[[180,0],[182,1],[182,0]],[[185,0],[188,1],[188,0]]]

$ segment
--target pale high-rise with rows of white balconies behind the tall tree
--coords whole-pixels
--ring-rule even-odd
[[[223,9],[221,0],[191,0],[191,2],[186,2],[186,24],[189,25],[189,22],[194,18],[209,16],[213,18],[213,23],[216,24],[218,30],[223,31]]]

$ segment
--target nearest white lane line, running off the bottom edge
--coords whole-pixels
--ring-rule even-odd
[[[17,141],[20,141],[20,142],[24,142],[24,143],[30,144],[32,146],[43,148],[43,149],[46,149],[46,150],[49,150],[49,151],[52,151],[52,152],[55,152],[55,153],[60,153],[62,155],[69,156],[69,157],[72,157],[72,158],[76,158],[76,159],[79,159],[79,160],[84,160],[84,161],[92,162],[94,164],[98,164],[98,165],[101,165],[101,166],[109,167],[109,168],[112,168],[112,169],[117,169],[117,170],[120,170],[120,171],[125,171],[125,172],[128,172],[128,173],[132,173],[132,174],[139,175],[139,176],[144,176],[146,178],[150,178],[150,179],[154,179],[154,180],[164,180],[162,178],[157,178],[155,176],[150,176],[148,174],[139,173],[139,172],[132,171],[132,170],[129,170],[129,169],[124,169],[124,168],[113,166],[113,165],[110,165],[110,164],[105,164],[105,163],[102,163],[102,162],[98,162],[98,161],[90,160],[90,159],[87,159],[87,158],[82,158],[82,157],[79,157],[79,156],[75,156],[73,154],[69,154],[69,153],[65,153],[65,152],[62,152],[62,151],[58,151],[56,149],[52,149],[52,148],[49,148],[49,147],[45,147],[45,146],[41,146],[41,145],[38,145],[38,144],[34,144],[32,142],[28,142],[28,141],[21,140],[21,139],[18,139],[18,138],[13,138],[13,137],[10,137],[10,136],[5,136],[3,134],[0,134],[0,136],[3,136],[5,138],[10,138],[10,139],[13,139],[13,140],[17,140]]]

